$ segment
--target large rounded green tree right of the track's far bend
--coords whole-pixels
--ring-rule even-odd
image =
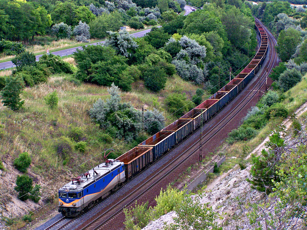
[[[300,32],[296,29],[289,28],[287,30],[282,30],[279,33],[276,47],[277,52],[279,53],[280,59],[283,62],[288,61],[291,56],[295,53],[297,45],[301,41]]]

